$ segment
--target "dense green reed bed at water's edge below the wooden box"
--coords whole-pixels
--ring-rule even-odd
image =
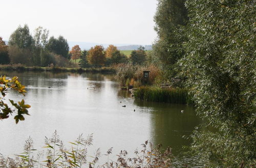
[[[192,97],[186,89],[161,89],[156,87],[140,87],[134,93],[136,99],[154,102],[177,104],[193,104]]]

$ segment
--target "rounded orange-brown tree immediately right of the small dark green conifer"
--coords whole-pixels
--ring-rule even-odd
[[[105,53],[102,45],[96,45],[89,50],[88,62],[95,67],[104,65]]]

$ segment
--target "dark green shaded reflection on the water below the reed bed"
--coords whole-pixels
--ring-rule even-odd
[[[180,152],[182,146],[188,146],[190,143],[182,136],[191,134],[195,126],[202,122],[195,115],[193,106],[144,101],[134,103],[151,109],[151,136],[154,144],[172,147],[175,154]],[[184,113],[181,113],[181,110],[184,110]]]

